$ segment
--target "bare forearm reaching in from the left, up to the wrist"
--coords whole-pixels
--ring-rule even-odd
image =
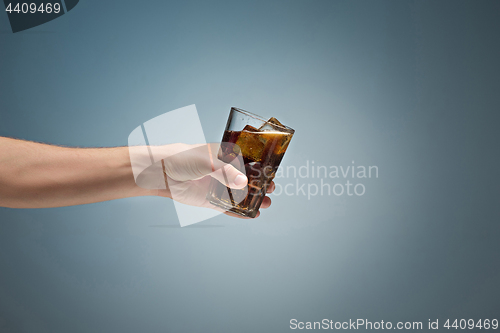
[[[128,148],[65,148],[0,138],[0,206],[44,208],[157,195],[135,184]]]

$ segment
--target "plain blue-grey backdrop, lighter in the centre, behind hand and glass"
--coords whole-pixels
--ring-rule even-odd
[[[379,167],[361,197],[274,196],[257,220],[182,229],[153,197],[0,208],[0,331],[498,319],[499,14],[499,1],[82,0],[12,34],[0,13],[2,136],[126,145],[196,104],[217,141],[238,106],[296,129],[284,166]]]

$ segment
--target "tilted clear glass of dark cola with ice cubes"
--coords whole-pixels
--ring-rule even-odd
[[[265,120],[256,114],[231,108],[218,158],[230,163],[235,157],[242,156],[248,185],[238,190],[212,179],[207,195],[210,203],[254,218],[294,133],[276,118]]]

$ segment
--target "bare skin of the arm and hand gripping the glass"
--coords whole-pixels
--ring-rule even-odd
[[[200,147],[203,148],[202,145],[183,144],[160,147],[165,157],[174,156],[164,160],[167,186],[166,189],[146,189],[134,180],[128,147],[68,148],[0,137],[0,206],[49,208],[161,196],[218,210],[204,199],[210,179],[222,183],[227,180],[225,185],[243,188],[247,178],[232,165],[225,165],[213,156],[207,158],[208,155],[191,153]],[[222,177],[220,168],[224,168],[226,178]],[[213,172],[214,169],[217,171]],[[172,196],[169,185],[181,186],[182,198]],[[267,193],[274,188],[271,183]],[[261,208],[270,205],[271,199],[266,196]]]

